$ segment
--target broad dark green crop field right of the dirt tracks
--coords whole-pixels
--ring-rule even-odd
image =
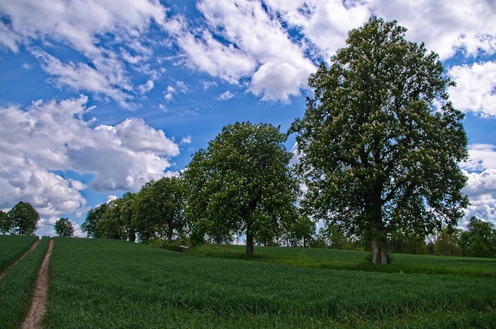
[[[279,249],[268,252],[277,257]],[[309,254],[313,251],[319,255],[308,257],[335,255]],[[356,261],[363,259],[356,255]],[[496,323],[496,281],[486,275],[335,270],[236,258],[56,238],[44,327],[493,328]]]

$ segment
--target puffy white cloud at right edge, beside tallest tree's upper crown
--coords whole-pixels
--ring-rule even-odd
[[[496,62],[453,66],[448,74],[457,82],[449,89],[456,108],[496,117]]]

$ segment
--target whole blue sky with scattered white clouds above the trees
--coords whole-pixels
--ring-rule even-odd
[[[0,208],[29,202],[37,235],[177,175],[236,121],[286,132],[309,74],[369,17],[437,52],[466,117],[459,163],[496,223],[496,1],[0,0]],[[294,149],[290,136],[287,149]]]

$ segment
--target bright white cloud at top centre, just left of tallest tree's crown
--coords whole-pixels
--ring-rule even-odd
[[[205,27],[185,27],[177,37],[187,65],[229,83],[251,77],[249,92],[263,100],[300,94],[316,68],[260,1],[203,0],[197,8]]]

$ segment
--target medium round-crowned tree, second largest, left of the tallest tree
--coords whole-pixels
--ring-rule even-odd
[[[244,232],[247,255],[254,237],[269,240],[296,220],[299,186],[289,168],[285,134],[269,124],[225,126],[185,170],[187,216],[196,237]]]

